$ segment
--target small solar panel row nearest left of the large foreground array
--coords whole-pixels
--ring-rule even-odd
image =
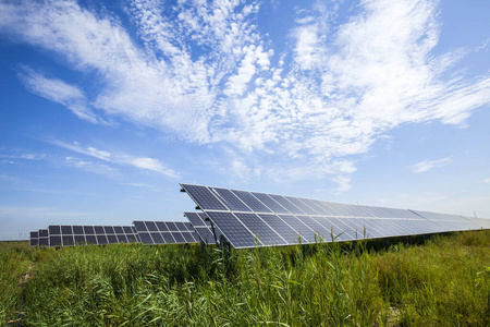
[[[199,237],[191,223],[182,221],[133,221],[143,244],[197,243]]]

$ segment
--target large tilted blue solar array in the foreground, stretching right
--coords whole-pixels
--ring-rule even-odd
[[[181,186],[235,249],[481,229],[488,220],[477,223],[463,216]]]

